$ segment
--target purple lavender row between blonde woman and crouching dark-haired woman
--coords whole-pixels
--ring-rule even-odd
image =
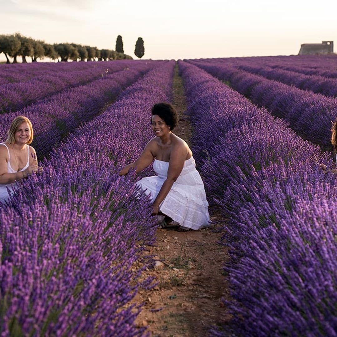
[[[143,335],[130,301],[152,284],[140,276],[153,264],[144,249],[156,226],[134,176],[118,171],[151,137],[146,120],[170,100],[173,70],[162,62],[125,90],[0,209],[3,335]]]

